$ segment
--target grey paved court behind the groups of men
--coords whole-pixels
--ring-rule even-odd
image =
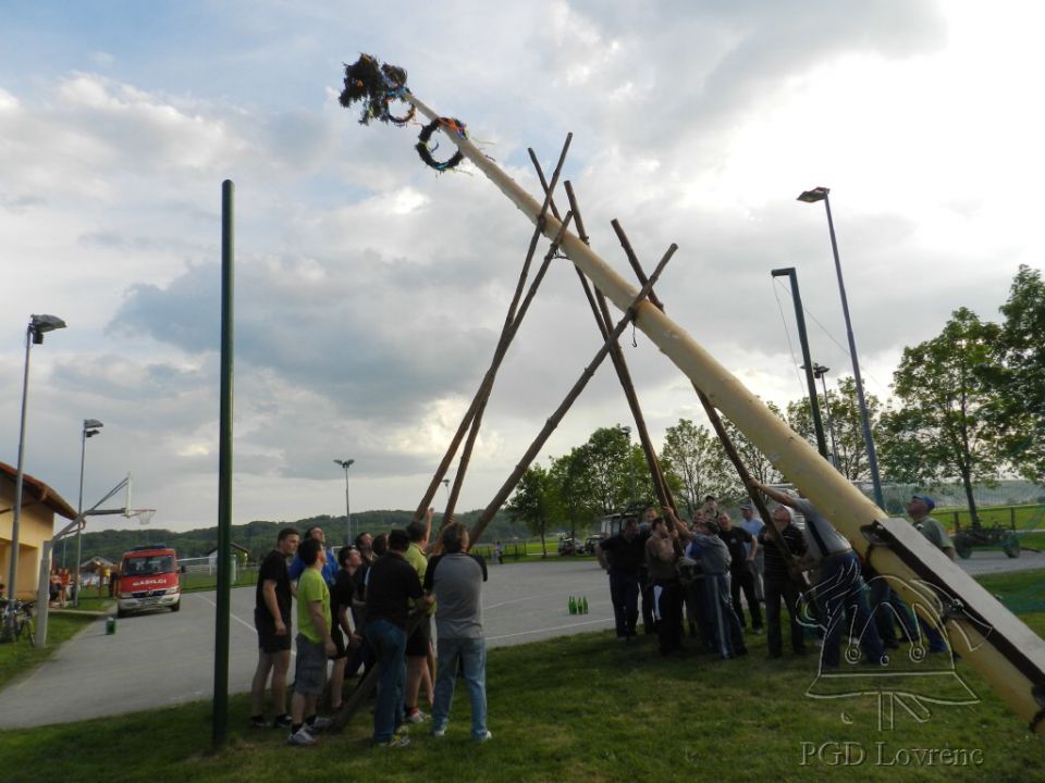
[[[1010,560],[978,551],[959,564],[973,575],[1045,568],[1045,555],[1024,551]],[[570,595],[588,598],[589,613],[570,616]],[[232,591],[229,686],[250,689],[257,662],[251,621],[254,589]],[[483,592],[491,646],[605,630],[613,610],[606,577],[591,560],[491,566]],[[0,692],[0,729],[45,725],[210,698],[213,683],[214,594],[186,593],[182,610],[90,625],[59,654]],[[608,639],[608,636],[607,636]]]

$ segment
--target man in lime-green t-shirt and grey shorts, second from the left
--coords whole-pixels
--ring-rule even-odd
[[[330,591],[323,580],[327,552],[315,538],[297,548],[305,570],[297,580],[297,664],[291,699],[290,745],[315,745],[315,734],[332,721],[316,714],[316,701],[327,681],[327,658],[337,651],[330,635]]]

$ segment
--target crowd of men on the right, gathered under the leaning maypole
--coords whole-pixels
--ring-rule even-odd
[[[850,662],[887,662],[886,650],[900,642],[924,643],[930,652],[948,649],[939,630],[920,620],[887,580],[876,577],[811,502],[757,482],[751,488],[778,504],[771,514],[772,530],[750,505],[740,506],[741,521],[734,523],[709,495],[690,524],[669,508],[663,515],[648,508],[641,523],[627,520],[617,535],[597,545],[610,575],[618,642],[637,635],[641,600],[644,631],[657,636],[664,656],[683,649],[685,621],[699,647],[722,658],[747,655],[745,634],[765,630],[769,655],[779,658],[782,609],[788,614],[791,650],[804,655],[812,631],[821,639],[821,666],[827,669],[839,666],[845,629],[862,630],[858,641],[847,643]],[[946,531],[930,517],[934,507],[931,497],[915,495],[908,513],[914,526],[954,559]],[[797,514],[804,520],[801,527]]]

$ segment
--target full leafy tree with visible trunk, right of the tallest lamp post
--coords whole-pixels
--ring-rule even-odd
[[[996,478],[1003,464],[989,415],[999,336],[997,324],[968,308],[956,310],[939,336],[903,349],[893,376],[902,405],[883,422],[882,462],[889,476],[912,483],[957,476],[974,526],[980,518],[972,484]]]

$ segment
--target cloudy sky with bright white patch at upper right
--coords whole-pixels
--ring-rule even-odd
[[[594,248],[679,252],[669,314],[754,391],[801,394],[794,265],[816,361],[848,365],[822,206],[832,188],[857,345],[888,395],[905,345],[996,318],[1040,265],[1045,11],[1001,0],[35,2],[0,7],[0,460],[74,506],[127,472],[155,526],[214,523],[221,182],[236,185],[236,522],[413,508],[478,385],[530,226],[475,169],[438,175],[418,128],[342,109],[343,63],[402,65],[531,192],[565,170]],[[444,147],[445,150],[445,147]],[[563,196],[565,202],[565,197]],[[783,318],[782,318],[783,311]],[[600,344],[557,261],[488,409],[460,506],[484,506]],[[654,438],[700,419],[641,334]],[[797,351],[797,344],[795,346]],[[544,455],[628,423],[608,364]],[[437,500],[440,504],[443,495]],[[106,518],[104,525],[113,524]],[[101,523],[100,523],[101,524]]]

